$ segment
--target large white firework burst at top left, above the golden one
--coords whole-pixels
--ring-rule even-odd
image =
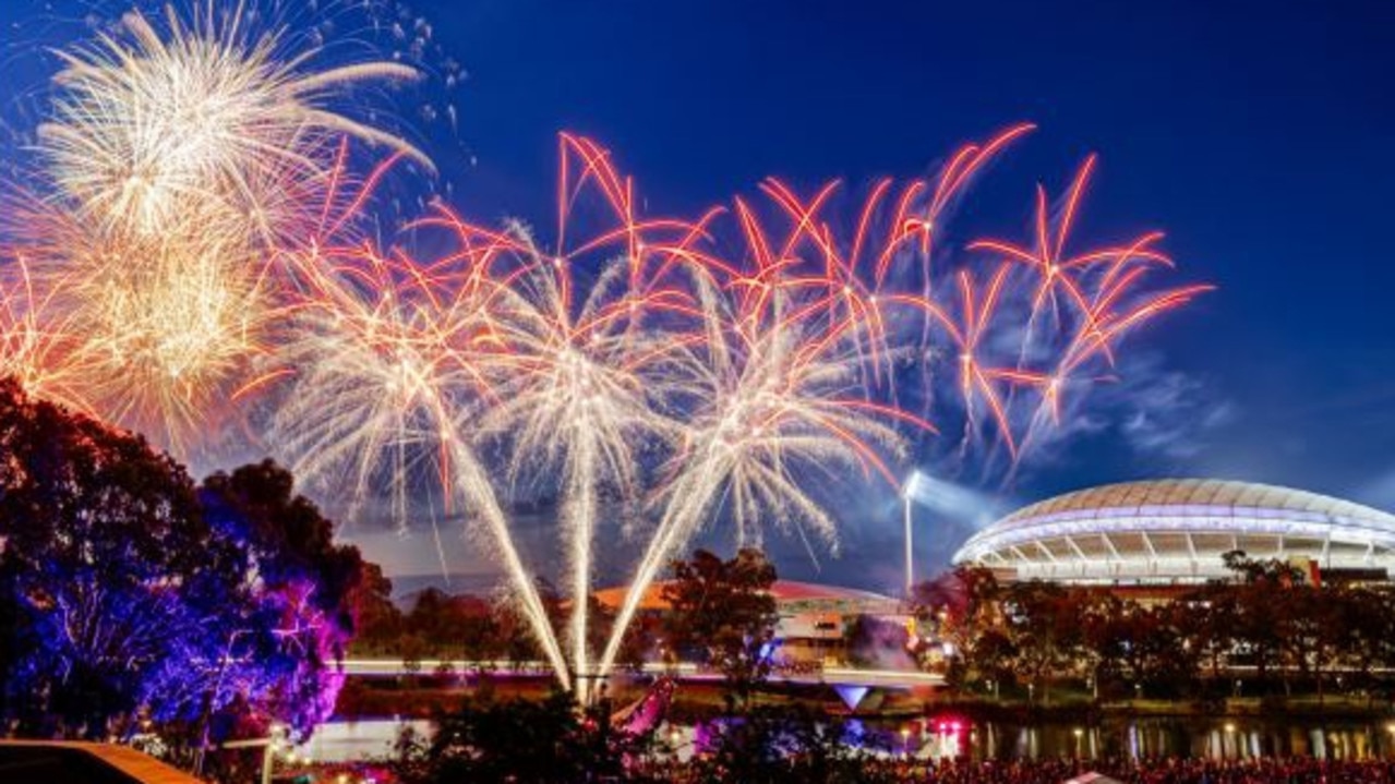
[[[280,33],[255,36],[241,8],[212,6],[191,22],[170,8],[166,35],[140,11],[126,35],[59,52],[52,120],[40,149],[57,188],[105,230],[163,233],[191,201],[218,202],[248,226],[278,236],[299,223],[287,179],[325,173],[328,140],[349,135],[430,162],[406,141],[329,107],[363,81],[413,80],[398,63],[301,68],[314,50],[287,50]]]

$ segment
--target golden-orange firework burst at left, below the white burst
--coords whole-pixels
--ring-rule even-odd
[[[31,368],[20,374],[27,389],[181,453],[190,435],[216,430],[248,360],[266,347],[265,257],[216,222],[201,230],[197,205],[187,223],[152,236],[93,232],[33,198],[10,206],[10,296],[25,294],[20,324],[45,335],[47,375],[64,379],[57,393],[56,378]],[[33,359],[11,352],[8,361]]]

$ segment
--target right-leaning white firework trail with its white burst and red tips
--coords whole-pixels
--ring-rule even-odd
[[[685,442],[663,488],[658,526],[601,656],[603,672],[614,664],[658,569],[709,518],[725,511],[741,543],[760,541],[760,525],[773,516],[806,547],[809,533],[836,545],[836,520],[809,495],[809,474],[836,480],[852,469],[896,485],[884,456],[904,455],[897,425],[933,430],[869,398],[868,346],[884,335],[875,294],[848,275],[852,265],[840,261],[830,233],[813,218],[831,187],[809,205],[777,181],[767,183],[766,193],[784,208],[792,227],[776,241],[738,199],[735,212],[753,269],[742,272],[706,257],[723,285],[699,279],[706,340],[675,368],[692,378]],[[801,248],[812,248],[823,264],[804,269],[809,265],[801,264]]]

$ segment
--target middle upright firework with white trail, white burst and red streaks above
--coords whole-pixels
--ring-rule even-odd
[[[644,324],[654,315],[699,312],[691,293],[671,280],[688,266],[684,254],[699,227],[635,220],[632,183],[608,158],[589,140],[562,137],[559,244],[551,251],[518,223],[494,232],[445,211],[423,222],[455,233],[460,251],[453,258],[476,276],[501,280],[478,308],[488,312],[494,338],[494,350],[480,359],[495,393],[477,430],[508,445],[511,488],[561,477],[572,597],[566,635],[583,700],[585,677],[591,674],[586,597],[601,499],[642,497],[644,455],[664,451],[679,435],[664,402],[674,379],[663,368],[696,339]],[[594,195],[607,219],[578,239],[572,213],[583,191]],[[568,240],[571,246],[562,244]]]

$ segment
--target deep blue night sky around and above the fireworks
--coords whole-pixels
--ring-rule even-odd
[[[28,13],[18,6],[0,8],[6,29]],[[1395,509],[1395,6],[414,8],[469,73],[449,96],[455,141],[431,152],[453,201],[481,218],[547,215],[559,130],[607,144],[654,211],[692,213],[767,174],[806,188],[841,177],[854,191],[923,174],[956,145],[1030,120],[1039,130],[970,197],[992,205],[975,227],[1014,237],[1034,184],[1060,193],[1098,152],[1077,236],[1162,229],[1180,268],[1170,282],[1219,290],[1136,338],[1152,368],[1136,389],[1147,406],[1027,466],[1000,504],[1205,476]],[[1127,427],[1137,416],[1151,427]],[[850,498],[873,505],[870,522],[850,526],[817,578],[894,586],[897,562],[868,566],[900,545],[894,502]],[[923,525],[929,569],[963,529]],[[816,576],[798,551],[780,565]]]

